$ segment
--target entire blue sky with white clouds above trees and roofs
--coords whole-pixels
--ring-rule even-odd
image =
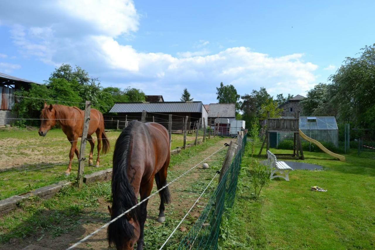
[[[103,86],[178,101],[302,94],[375,42],[374,1],[2,1],[0,72],[43,82],[61,63]]]

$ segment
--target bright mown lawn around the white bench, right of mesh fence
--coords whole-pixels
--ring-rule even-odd
[[[345,155],[346,161],[324,153],[304,154],[304,162],[321,165],[324,170],[294,170],[289,174],[290,181],[275,178],[262,190],[258,201],[252,199],[251,182],[242,171],[237,198],[229,212],[229,238],[221,242],[222,247],[375,248],[375,161],[357,157],[356,149]],[[243,170],[249,167],[249,157],[248,151]],[[258,160],[263,159],[266,157]],[[315,185],[328,191],[310,191]]]

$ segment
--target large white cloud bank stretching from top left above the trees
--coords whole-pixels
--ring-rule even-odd
[[[314,86],[317,65],[303,61],[303,54],[272,57],[234,47],[209,54],[200,40],[174,57],[145,53],[120,44],[119,36],[138,30],[139,15],[132,1],[12,1],[2,4],[0,21],[12,29],[21,54],[51,65],[80,65],[104,86],[133,86],[147,94],[178,100],[184,87],[195,100],[213,102],[220,82],[233,84],[240,94],[261,86],[271,95],[299,94]],[[293,92],[294,91],[294,92]]]

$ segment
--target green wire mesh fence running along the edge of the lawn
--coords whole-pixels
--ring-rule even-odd
[[[240,172],[242,155],[246,145],[245,134],[242,148],[233,158],[231,165],[223,175],[212,196],[208,200],[194,226],[180,242],[178,249],[216,249],[219,238],[219,227],[223,212],[233,206],[236,197],[237,181]]]

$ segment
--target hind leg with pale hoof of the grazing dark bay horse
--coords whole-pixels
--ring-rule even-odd
[[[166,175],[167,175],[168,166],[169,166],[169,160],[167,160],[164,163],[164,166],[155,175],[155,182],[156,182],[157,189],[160,189],[164,185],[166,185]],[[168,204],[169,202],[171,202],[171,195],[169,194],[168,187],[161,190],[159,192],[159,195],[160,195],[160,206],[159,206],[159,217],[157,218],[157,221],[159,221],[160,223],[163,223],[165,221],[164,204]]]

